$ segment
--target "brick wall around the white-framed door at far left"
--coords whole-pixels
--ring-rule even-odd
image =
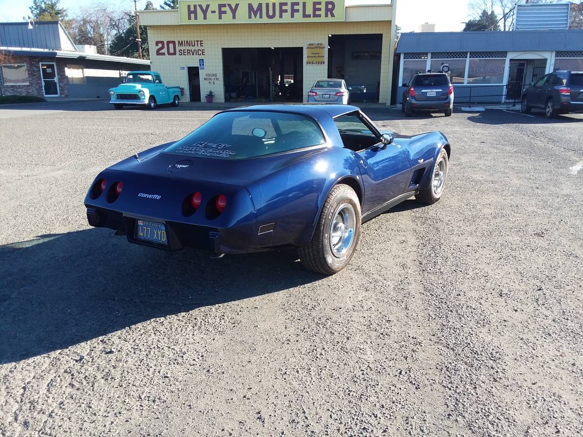
[[[11,64],[27,64],[29,72],[28,85],[0,85],[5,96],[39,96],[44,97],[43,80],[40,74],[40,62],[55,62],[57,64],[57,77],[59,82],[59,96],[68,96],[68,80],[65,76],[66,61],[57,58],[43,57],[13,57]]]

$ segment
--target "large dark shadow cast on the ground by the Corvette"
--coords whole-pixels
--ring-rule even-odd
[[[0,246],[0,363],[322,279],[296,259],[294,251],[165,252],[97,228]]]

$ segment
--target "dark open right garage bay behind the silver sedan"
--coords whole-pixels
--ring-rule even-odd
[[[352,102],[378,102],[382,34],[328,36],[328,77],[344,79]]]

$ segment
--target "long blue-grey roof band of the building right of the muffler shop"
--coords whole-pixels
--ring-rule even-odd
[[[581,50],[583,30],[402,33],[395,53]]]

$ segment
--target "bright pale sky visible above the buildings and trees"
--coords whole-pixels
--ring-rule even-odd
[[[103,1],[103,0],[101,0]],[[154,0],[154,6],[159,7],[163,0]],[[386,0],[347,0],[350,3],[385,3]],[[105,0],[111,5],[123,9],[134,8],[133,0]],[[61,0],[61,5],[71,13],[81,6],[90,5],[93,0]],[[31,0],[0,0],[0,21],[22,21],[23,16],[29,15]],[[143,8],[146,0],[138,1],[138,8]],[[438,32],[458,31],[463,29],[462,22],[467,20],[468,0],[397,0],[396,22],[402,31],[416,30],[419,24],[434,23]]]

